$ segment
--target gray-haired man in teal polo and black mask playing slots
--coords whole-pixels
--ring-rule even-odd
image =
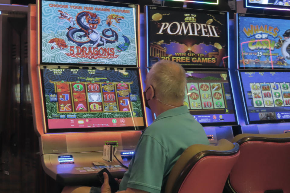
[[[181,65],[166,60],[155,63],[145,84],[145,104],[157,117],[143,131],[118,193],[164,192],[183,151],[193,144],[209,144],[202,126],[183,106],[186,78]],[[102,188],[65,187],[63,193],[111,193],[106,173],[104,179]]]

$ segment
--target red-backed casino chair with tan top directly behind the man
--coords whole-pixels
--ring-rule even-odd
[[[239,157],[239,145],[226,139],[217,145],[194,144],[173,166],[165,186],[166,193],[219,193]]]

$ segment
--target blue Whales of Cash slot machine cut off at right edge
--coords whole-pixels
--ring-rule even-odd
[[[238,76],[245,112],[245,119],[240,122],[242,130],[262,134],[288,132],[289,17],[235,17]]]

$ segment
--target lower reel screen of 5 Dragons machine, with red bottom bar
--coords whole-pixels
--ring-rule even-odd
[[[48,132],[144,128],[138,70],[66,67],[41,74]]]

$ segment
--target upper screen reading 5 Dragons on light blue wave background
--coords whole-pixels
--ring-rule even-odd
[[[38,9],[39,64],[139,66],[139,5],[38,0]]]

